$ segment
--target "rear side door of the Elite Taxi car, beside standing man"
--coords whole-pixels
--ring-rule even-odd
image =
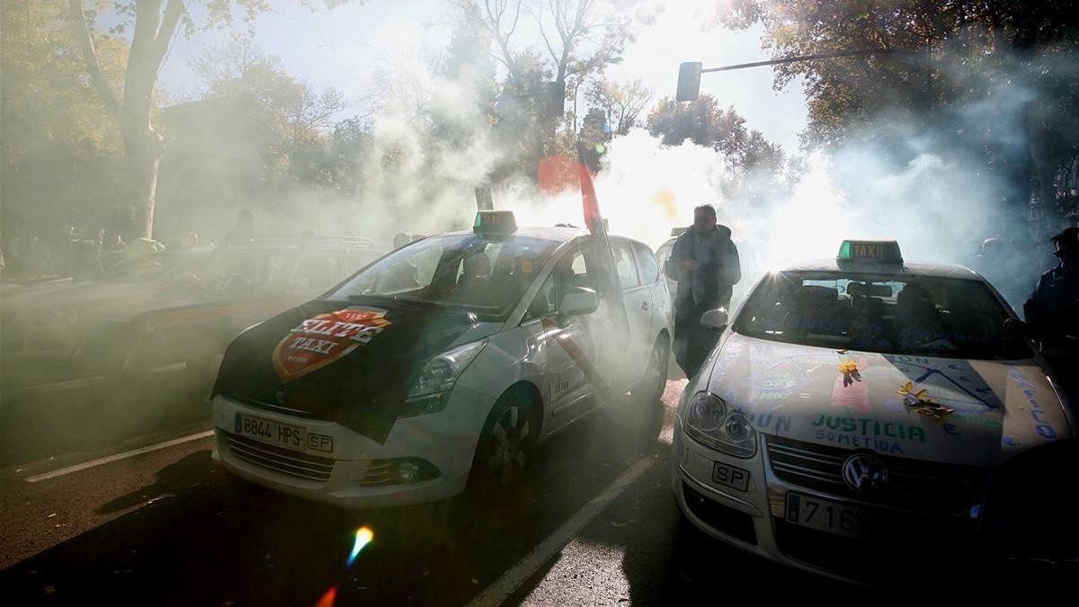
[[[614,269],[622,286],[623,304],[629,323],[629,338],[618,339],[614,333],[603,335],[601,348],[614,353],[607,358],[611,376],[618,381],[618,390],[629,389],[643,377],[648,353],[652,351],[652,291],[641,283],[630,241],[611,239]]]

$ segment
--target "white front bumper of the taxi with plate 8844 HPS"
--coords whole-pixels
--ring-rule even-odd
[[[437,501],[464,490],[486,412],[494,402],[457,387],[443,410],[398,419],[384,444],[333,421],[306,419],[214,397],[215,460],[236,475],[296,497],[342,508],[380,508]],[[234,432],[236,414],[305,428],[332,439],[332,451],[291,454],[243,444]],[[384,460],[428,462],[438,475],[412,483],[381,482]],[[378,482],[372,482],[378,478]]]

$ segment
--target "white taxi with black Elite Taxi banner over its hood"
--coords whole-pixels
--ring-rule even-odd
[[[597,407],[657,402],[670,336],[644,244],[480,212],[240,335],[213,391],[214,457],[346,508],[509,487]]]

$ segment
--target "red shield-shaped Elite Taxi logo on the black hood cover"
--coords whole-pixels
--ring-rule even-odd
[[[378,308],[346,308],[308,319],[277,342],[274,369],[282,381],[292,381],[331,364],[390,326],[385,315]]]

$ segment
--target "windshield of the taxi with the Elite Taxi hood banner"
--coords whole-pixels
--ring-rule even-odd
[[[525,237],[432,237],[375,261],[327,298],[384,296],[505,315],[557,246]]]

